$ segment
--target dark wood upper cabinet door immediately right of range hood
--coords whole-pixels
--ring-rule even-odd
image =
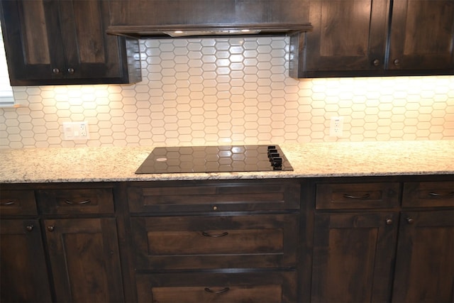
[[[314,31],[306,34],[306,77],[379,74],[384,68],[388,11],[387,0],[311,1]]]

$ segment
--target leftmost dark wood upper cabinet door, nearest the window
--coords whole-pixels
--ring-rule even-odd
[[[60,79],[65,58],[57,2],[1,1],[0,5],[11,85],[25,79]]]

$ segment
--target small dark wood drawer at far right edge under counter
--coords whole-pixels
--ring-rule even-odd
[[[406,182],[402,206],[454,206],[454,181]]]

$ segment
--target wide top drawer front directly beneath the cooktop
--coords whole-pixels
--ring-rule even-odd
[[[299,183],[293,180],[148,184],[128,188],[131,212],[299,209]]]

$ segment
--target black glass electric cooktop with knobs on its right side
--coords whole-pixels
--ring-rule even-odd
[[[293,170],[279,145],[155,148],[136,174]]]

